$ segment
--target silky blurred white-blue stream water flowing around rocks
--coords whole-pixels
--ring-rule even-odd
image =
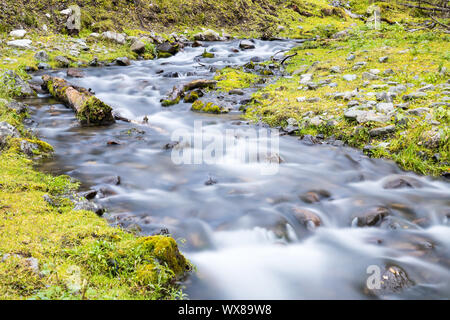
[[[83,69],[85,77],[68,80],[92,88],[135,121],[81,127],[70,109],[48,96],[29,101],[30,127],[55,148],[41,168],[100,190],[95,201],[108,209],[105,217],[113,225],[142,234],[167,228],[184,239],[181,250],[197,268],[184,283],[191,299],[367,299],[374,297],[365,289],[367,268],[373,265],[399,266],[412,283],[383,298],[448,299],[450,187],[445,180],[403,172],[391,161],[351,148],[310,146],[293,136],[279,137],[283,162],[272,175],[261,173],[261,161],[236,158],[228,149],[217,164],[174,163],[167,147],[174,142],[172,134],[194,132],[195,120],[202,120],[203,135],[210,137],[263,128],[239,120],[240,101],[251,90],[218,97],[233,107],[227,115],[195,113],[183,102],[160,104],[176,84],[210,79],[216,68],[243,65],[253,57],[268,60],[295,45],[255,43],[255,49],[239,52],[233,50],[239,45],[235,41],[206,43],[212,59],[196,59],[203,47],[186,47],[167,59]],[[52,73],[66,77],[64,70]],[[142,121],[145,116],[148,123]],[[240,139],[239,133],[232,138],[235,149],[258,143]],[[120,176],[120,184],[114,176]],[[417,187],[383,188],[399,177],[414,179]],[[323,198],[302,200],[311,190]],[[355,216],[374,207],[389,209],[381,225],[356,226]],[[320,217],[321,226],[296,219],[302,210]]]

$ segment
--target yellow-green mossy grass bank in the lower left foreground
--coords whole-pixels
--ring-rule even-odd
[[[18,146],[38,143],[0,100],[0,122],[18,128],[0,154],[0,299],[174,299],[189,268],[174,239],[137,237],[90,211],[74,211],[78,187],[33,169]]]

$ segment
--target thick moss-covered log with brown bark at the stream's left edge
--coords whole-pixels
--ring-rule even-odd
[[[47,74],[42,76],[42,80],[42,88],[72,108],[82,124],[107,125],[115,122],[112,108],[89,90]]]

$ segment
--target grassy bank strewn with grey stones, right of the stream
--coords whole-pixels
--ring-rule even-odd
[[[294,119],[300,136],[333,137],[373,157],[393,159],[405,170],[448,174],[449,36],[382,28],[361,26],[344,39],[293,49],[289,54],[297,55],[286,66],[291,76],[258,92],[246,116],[281,127]],[[302,82],[305,74],[311,81]],[[390,105],[383,95],[392,92]],[[352,106],[380,117],[357,121],[346,116]]]

